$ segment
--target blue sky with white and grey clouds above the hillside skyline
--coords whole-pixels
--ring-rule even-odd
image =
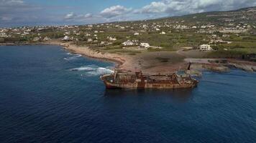
[[[256,0],[0,0],[0,27],[132,21],[250,6]]]

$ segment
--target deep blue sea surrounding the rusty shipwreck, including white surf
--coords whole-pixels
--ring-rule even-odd
[[[192,90],[106,90],[113,64],[59,46],[0,46],[0,142],[256,142],[256,74]]]

